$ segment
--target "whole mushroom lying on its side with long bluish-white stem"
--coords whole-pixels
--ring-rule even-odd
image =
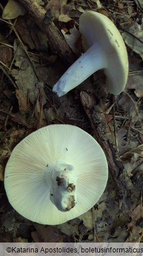
[[[80,16],[79,29],[88,50],[62,75],[53,92],[63,96],[94,72],[103,69],[110,94],[119,95],[128,76],[127,50],[119,30],[109,18],[93,11]]]

